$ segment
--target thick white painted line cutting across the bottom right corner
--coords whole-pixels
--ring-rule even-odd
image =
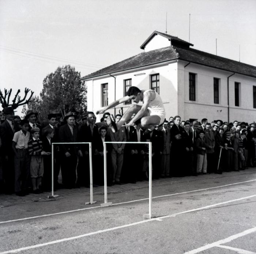
[[[204,245],[200,248],[197,248],[195,250],[191,250],[191,251],[188,251],[184,254],[196,254],[196,253],[199,253],[201,251],[204,251],[204,250],[208,250],[210,248],[213,248],[213,247],[222,247],[222,246],[219,246],[223,243],[228,243],[228,242],[231,242],[233,241],[234,239],[237,239],[239,237],[242,237],[242,236],[245,236],[245,235],[248,235],[248,234],[251,234],[253,232],[256,232],[256,227],[253,227],[253,228],[250,228],[248,230],[245,230],[243,232],[240,232],[238,234],[235,234],[235,235],[231,235],[229,236],[228,238],[225,238],[225,239],[222,239],[222,240],[219,240],[217,242],[214,242],[214,243],[210,243],[210,244],[207,244],[207,245]],[[248,254],[247,252],[245,254]]]

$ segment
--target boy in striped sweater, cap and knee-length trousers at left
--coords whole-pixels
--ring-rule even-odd
[[[31,138],[28,144],[30,161],[30,176],[33,186],[33,193],[39,194],[42,176],[44,174],[44,161],[42,155],[48,155],[42,150],[42,141],[39,139],[40,129],[38,127],[31,129]]]

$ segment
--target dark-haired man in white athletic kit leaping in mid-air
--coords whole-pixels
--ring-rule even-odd
[[[113,132],[116,132],[121,126],[127,123],[133,114],[135,116],[124,126],[132,126],[138,119],[141,119],[141,125],[144,129],[147,129],[146,132],[153,131],[155,126],[162,124],[165,120],[165,108],[163,107],[163,102],[159,94],[154,90],[140,90],[136,86],[129,88],[127,96],[110,103],[107,107],[98,110],[96,114],[104,113],[109,108],[116,107],[116,105],[130,100],[136,104],[132,104],[125,111],[118,123],[114,123],[110,116],[108,116],[107,123]],[[143,105],[138,105],[139,101],[142,101]]]

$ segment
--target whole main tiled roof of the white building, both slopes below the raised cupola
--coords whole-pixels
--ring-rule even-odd
[[[140,53],[121,62],[114,63],[113,65],[98,70],[97,72],[93,72],[87,76],[84,76],[82,79],[89,79],[109,73],[121,72],[124,70],[152,65],[154,63],[170,61],[177,58],[188,62],[227,70],[229,72],[235,72],[246,76],[256,77],[255,66],[234,61],[228,58],[219,57],[217,55],[213,55],[196,49],[169,46],[162,49],[156,49]]]

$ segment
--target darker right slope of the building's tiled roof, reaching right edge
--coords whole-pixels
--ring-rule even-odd
[[[241,63],[224,57],[219,57],[217,55],[196,49],[185,49],[175,46],[174,49],[176,49],[178,52],[178,58],[181,60],[227,70],[229,72],[244,74],[246,76],[256,77],[256,66],[248,65],[246,63]]]

